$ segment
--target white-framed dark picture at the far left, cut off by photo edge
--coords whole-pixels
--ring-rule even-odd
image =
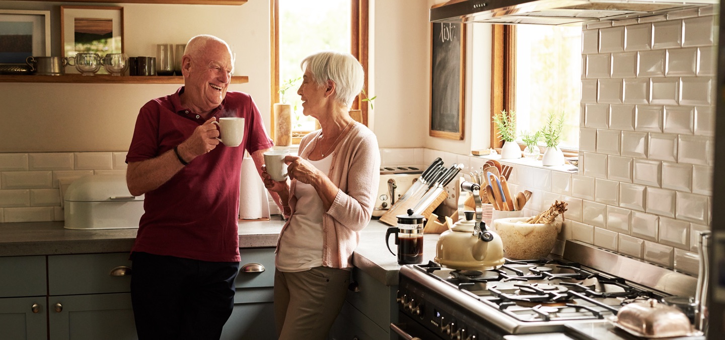
[[[50,57],[50,11],[0,9],[0,64]]]

